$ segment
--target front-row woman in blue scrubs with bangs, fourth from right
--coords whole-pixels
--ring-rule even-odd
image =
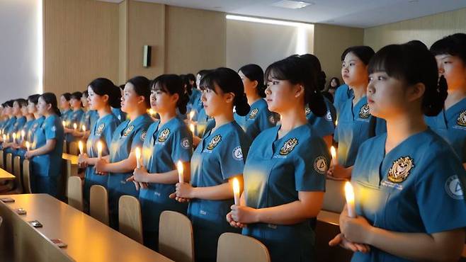
[[[164,74],[152,81],[151,106],[160,120],[150,125],[142,148],[142,166],[135,169],[128,181],[147,183],[141,188],[139,199],[142,210],[144,245],[157,249],[159,217],[164,210],[186,215],[187,203],[177,203],[169,198],[178,183],[176,164],[183,164],[183,178],[189,183],[192,135],[188,126],[177,116],[186,113],[188,96],[183,91],[181,77]]]

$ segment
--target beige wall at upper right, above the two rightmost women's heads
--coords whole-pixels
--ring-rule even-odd
[[[466,32],[466,8],[366,28],[364,44],[370,45],[376,52],[385,45],[401,44],[414,39],[431,47],[436,40],[460,32]]]

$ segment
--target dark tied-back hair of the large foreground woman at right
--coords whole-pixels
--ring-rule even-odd
[[[445,78],[441,76],[438,79],[436,58],[422,47],[387,45],[370,60],[368,72],[385,72],[409,85],[424,84],[426,91],[422,98],[422,111],[427,116],[438,115],[448,96]]]

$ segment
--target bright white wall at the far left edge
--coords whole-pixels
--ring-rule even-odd
[[[41,5],[42,0],[0,0],[0,103],[42,91]]]

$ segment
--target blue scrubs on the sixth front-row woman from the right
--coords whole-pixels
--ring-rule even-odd
[[[98,114],[96,114],[98,115]],[[89,157],[98,157],[97,144],[99,141],[102,142],[102,156],[108,155],[108,149],[112,142],[112,135],[120,125],[120,120],[116,118],[112,113],[104,115],[103,118],[99,118],[91,127],[89,138],[86,142],[86,150]],[[96,174],[96,170],[93,166],[86,167],[86,173],[84,176],[84,199],[89,200],[89,190],[91,186],[100,185],[107,187],[107,176],[101,176]]]

